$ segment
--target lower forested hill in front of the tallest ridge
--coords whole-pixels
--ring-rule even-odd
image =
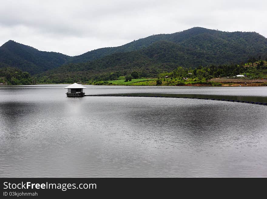
[[[262,58],[267,59],[267,57]],[[257,60],[262,58],[257,57]],[[253,61],[248,59],[250,58],[245,57],[242,61],[255,63],[256,58],[252,58]],[[229,59],[229,62],[232,61]],[[157,41],[137,51],[118,52],[86,63],[65,64],[39,74],[38,77],[45,77],[42,82],[47,80],[54,83],[86,82],[90,79],[116,79],[137,71],[140,77],[155,78],[159,73],[170,72],[178,66],[196,68],[199,65],[221,65],[227,62],[227,57],[222,54],[208,56],[205,51],[184,47],[170,41]],[[236,63],[239,62],[232,62],[233,65]]]

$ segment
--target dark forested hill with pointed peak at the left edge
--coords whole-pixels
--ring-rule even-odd
[[[39,51],[9,40],[0,47],[0,67],[12,66],[36,74],[66,63],[70,56],[56,52]]]

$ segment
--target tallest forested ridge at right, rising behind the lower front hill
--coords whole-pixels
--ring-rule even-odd
[[[135,51],[146,48],[156,41],[169,41],[191,51],[204,53],[203,64],[210,64],[211,62],[219,64],[237,63],[248,59],[250,56],[267,55],[267,38],[256,32],[223,32],[195,27],[173,34],[151,35],[118,47],[89,51],[74,56],[70,62],[82,63],[113,53]],[[192,54],[188,56],[192,56]],[[193,54],[194,57],[198,57],[198,53]],[[220,60],[217,60],[218,57],[220,57]],[[195,64],[199,65],[202,62],[196,62]]]

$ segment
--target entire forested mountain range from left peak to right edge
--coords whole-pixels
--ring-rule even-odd
[[[138,70],[143,77],[149,77],[177,66],[196,68],[199,65],[236,64],[259,56],[267,58],[267,38],[259,33],[195,27],[173,34],[151,35],[122,46],[100,48],[74,57],[38,51],[8,41],[0,47],[0,68],[12,66],[31,74],[47,71],[39,76],[56,73],[69,78],[86,78],[86,74],[86,79],[99,78],[104,73],[125,74]]]

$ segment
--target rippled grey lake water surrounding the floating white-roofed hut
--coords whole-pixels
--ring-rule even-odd
[[[0,87],[0,177],[267,177],[267,106]],[[266,100],[267,87],[86,86]]]

